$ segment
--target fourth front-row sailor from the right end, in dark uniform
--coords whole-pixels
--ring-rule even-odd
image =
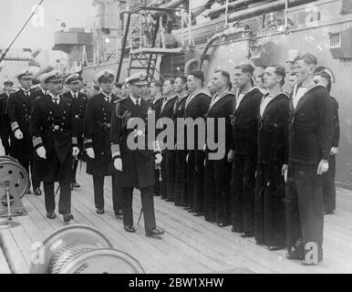
[[[212,98],[207,120],[214,122],[211,141],[222,142],[217,149],[205,147],[204,173],[204,212],[205,220],[216,222],[219,227],[231,224],[231,177],[232,163],[228,162],[227,155],[233,145],[233,129],[231,117],[233,114],[234,95],[230,93],[230,74],[226,71],[217,71],[212,77],[212,89],[215,95]],[[224,137],[219,137],[219,119],[225,121]],[[208,133],[207,133],[208,134]],[[223,157],[213,157],[215,152]],[[216,154],[218,155],[218,154]]]

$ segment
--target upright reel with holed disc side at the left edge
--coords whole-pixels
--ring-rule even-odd
[[[14,227],[18,224],[12,216],[26,215],[21,198],[29,187],[29,175],[26,169],[14,158],[0,157],[0,217],[7,217],[0,227]]]

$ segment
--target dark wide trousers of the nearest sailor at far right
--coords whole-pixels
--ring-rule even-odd
[[[316,165],[289,162],[286,183],[287,249],[299,247],[306,255],[316,247],[323,259],[324,199],[322,176]],[[300,243],[302,243],[300,245]],[[300,245],[300,246],[299,246]]]

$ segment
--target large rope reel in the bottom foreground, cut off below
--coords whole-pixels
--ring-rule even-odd
[[[144,274],[135,258],[112,249],[105,235],[85,225],[58,230],[32,258],[30,274]]]

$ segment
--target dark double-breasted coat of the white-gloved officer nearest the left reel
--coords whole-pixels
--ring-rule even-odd
[[[57,105],[50,95],[37,99],[30,119],[35,150],[44,146],[47,159],[35,157],[35,178],[43,182],[70,182],[72,147],[78,146],[72,101],[60,97]]]

